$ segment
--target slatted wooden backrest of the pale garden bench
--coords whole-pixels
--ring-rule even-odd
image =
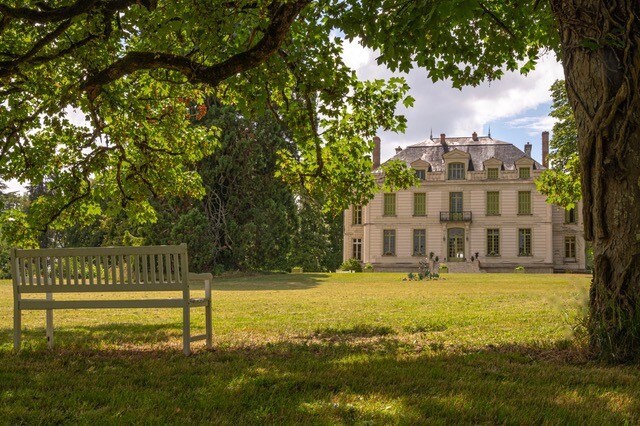
[[[183,290],[188,265],[186,244],[11,251],[20,293]]]

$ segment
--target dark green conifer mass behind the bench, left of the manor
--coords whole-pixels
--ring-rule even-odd
[[[219,130],[219,146],[203,158],[202,200],[176,198],[156,208],[149,243],[189,244],[196,270],[283,270],[295,229],[293,192],[276,178],[277,153],[290,149],[268,116],[242,117],[214,103],[199,125]]]

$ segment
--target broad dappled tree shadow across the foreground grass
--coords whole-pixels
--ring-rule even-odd
[[[96,336],[117,329],[123,339],[145,343],[160,327],[174,326],[87,329]],[[586,362],[568,346],[422,350],[392,332],[359,330],[324,329],[323,339],[266,343],[216,340],[215,350],[200,349],[190,357],[180,352],[179,339],[164,347],[4,350],[0,418],[8,423],[640,421],[638,367]]]

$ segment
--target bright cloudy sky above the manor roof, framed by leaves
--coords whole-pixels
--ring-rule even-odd
[[[524,148],[533,144],[532,156],[541,161],[541,132],[551,132],[553,120],[549,117],[551,94],[549,88],[563,78],[562,66],[552,54],[547,54],[534,71],[527,76],[505,73],[499,81],[484,83],[462,90],[451,87],[451,82],[433,83],[424,69],[413,69],[408,74],[393,73],[376,63],[376,53],[360,46],[357,40],[344,43],[343,59],[361,80],[403,76],[415,98],[412,108],[400,107],[399,114],[407,117],[404,134],[381,131],[381,159],[384,162],[395,154],[394,148],[420,142],[441,133],[447,136],[471,136],[475,131],[487,135],[489,127],[494,139]]]

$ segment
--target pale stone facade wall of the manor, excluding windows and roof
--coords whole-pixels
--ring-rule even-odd
[[[396,215],[385,216],[384,193],[376,194],[363,206],[362,224],[353,224],[353,209],[345,212],[344,259],[353,257],[352,241],[362,240],[362,261],[377,269],[411,270],[424,256],[413,255],[413,230],[426,230],[426,253],[433,252],[440,260],[447,256],[447,230],[465,230],[464,257],[479,254],[480,265],[487,270],[513,271],[517,265],[527,270],[584,270],[585,243],[582,238],[581,215],[575,224],[564,223],[564,210],[546,203],[545,196],[535,189],[534,179],[540,171],[533,170],[531,178],[519,179],[517,171],[501,171],[498,180],[488,180],[484,171],[468,172],[465,180],[447,181],[443,172],[428,173],[419,187],[396,192]],[[499,215],[486,214],[488,191],[498,191]],[[532,211],[518,214],[518,192],[531,192]],[[426,216],[413,215],[413,194],[426,193]],[[471,221],[443,222],[440,212],[449,211],[449,193],[463,193],[463,210],[470,211]],[[577,209],[579,211],[579,209]],[[487,229],[500,230],[500,255],[487,254]],[[519,256],[518,230],[531,229],[531,255]],[[396,253],[383,254],[383,232],[396,231]],[[576,257],[565,258],[565,236],[576,239]],[[447,259],[449,262],[451,259]]]

